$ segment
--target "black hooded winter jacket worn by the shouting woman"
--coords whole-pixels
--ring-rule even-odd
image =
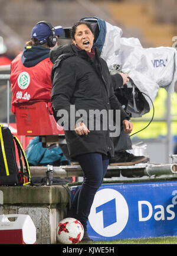
[[[83,122],[89,128],[90,119],[93,118],[90,110],[120,110],[121,122],[129,119],[122,105],[113,93],[112,79],[106,62],[101,59],[100,53],[95,50],[94,60],[91,60],[85,50],[78,50],[74,44],[56,47],[51,50],[50,59],[54,63],[51,72],[53,88],[51,103],[54,110],[67,110],[68,117],[74,117],[76,111],[84,110]],[[75,113],[70,113],[70,105],[75,106]],[[82,112],[81,112],[82,113]],[[65,116],[64,116],[65,117]],[[88,135],[77,135],[74,126],[79,121],[80,115],[70,130],[65,129],[65,139],[71,158],[84,153],[99,152],[114,156],[112,138],[109,129],[104,130],[103,120],[100,129],[90,130]],[[94,121],[95,116],[94,116]],[[67,120],[63,118],[64,122]],[[109,120],[109,119],[107,119]],[[69,121],[70,124],[73,120]],[[73,129],[73,130],[72,130]]]

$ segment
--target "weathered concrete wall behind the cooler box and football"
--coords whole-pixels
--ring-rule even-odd
[[[0,215],[30,215],[37,230],[36,244],[57,244],[58,222],[70,203],[67,186],[0,187]]]

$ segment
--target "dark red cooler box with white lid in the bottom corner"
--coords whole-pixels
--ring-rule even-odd
[[[36,229],[29,215],[0,215],[0,244],[35,244],[35,241]]]

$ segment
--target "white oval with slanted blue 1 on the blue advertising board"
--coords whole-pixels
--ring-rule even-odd
[[[97,191],[89,215],[94,231],[106,237],[118,235],[128,218],[129,208],[122,194],[112,188]]]

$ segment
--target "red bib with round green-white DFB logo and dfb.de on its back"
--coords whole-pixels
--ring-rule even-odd
[[[12,112],[15,104],[31,101],[51,101],[51,68],[49,57],[34,66],[24,66],[22,52],[11,62]]]

